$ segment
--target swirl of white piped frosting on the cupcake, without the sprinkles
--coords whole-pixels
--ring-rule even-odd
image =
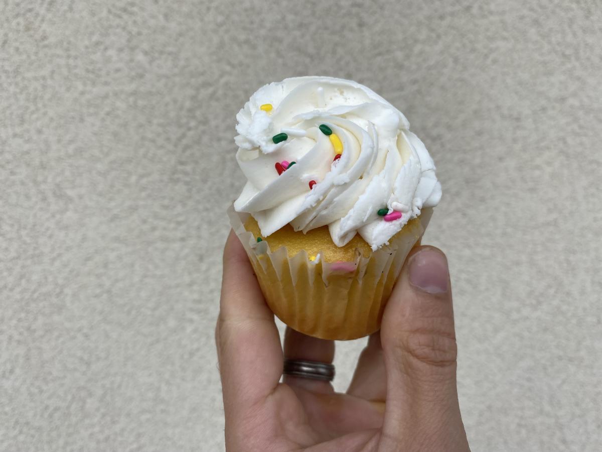
[[[273,105],[272,111],[261,105]],[[423,207],[441,199],[435,165],[401,111],[367,87],[330,77],[287,78],[261,87],[237,115],[237,160],[247,178],[234,202],[267,237],[290,223],[306,232],[328,225],[337,246],[359,233],[376,250]],[[343,143],[334,146],[325,124]],[[288,139],[274,143],[285,132]],[[296,162],[281,175],[276,162]],[[309,181],[317,183],[310,190]],[[384,207],[402,218],[384,221]]]

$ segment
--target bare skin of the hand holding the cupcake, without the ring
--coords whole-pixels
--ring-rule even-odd
[[[274,315],[243,246],[230,233],[216,328],[228,451],[469,451],[456,390],[456,339],[445,255],[406,260],[382,327],[368,339],[346,393],[285,376],[284,357],[332,362],[335,345]]]

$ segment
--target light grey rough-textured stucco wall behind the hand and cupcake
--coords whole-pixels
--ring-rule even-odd
[[[435,159],[473,450],[600,450],[601,24],[584,0],[1,2],[0,450],[222,450],[234,116],[308,74],[376,90]]]

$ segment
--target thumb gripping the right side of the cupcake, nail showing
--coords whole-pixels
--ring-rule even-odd
[[[456,336],[447,259],[415,249],[383,313],[387,394],[383,441],[408,450],[468,450],[456,390]]]

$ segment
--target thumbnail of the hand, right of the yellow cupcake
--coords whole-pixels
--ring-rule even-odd
[[[410,282],[424,292],[447,292],[449,279],[447,259],[435,248],[424,248],[410,258]]]

